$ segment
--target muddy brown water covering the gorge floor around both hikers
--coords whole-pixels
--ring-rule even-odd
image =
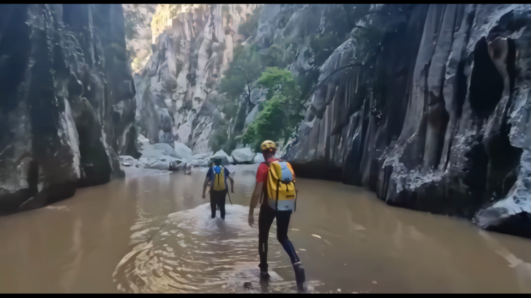
[[[258,282],[258,229],[247,223],[256,168],[237,167],[225,221],[209,217],[196,168],[0,217],[0,292],[295,292],[274,223],[272,278]],[[529,239],[386,206],[342,183],[297,186],[288,235],[310,292],[531,292]]]

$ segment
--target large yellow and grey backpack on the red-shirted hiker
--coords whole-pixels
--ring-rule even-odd
[[[296,211],[295,172],[290,163],[273,161],[268,167],[268,180],[264,183],[263,194],[268,197],[269,206],[279,211]]]

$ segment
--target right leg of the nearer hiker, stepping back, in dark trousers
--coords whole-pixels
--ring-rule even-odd
[[[295,271],[295,281],[297,281],[297,288],[304,291],[304,281],[306,277],[304,275],[304,268],[302,267],[301,260],[295,252],[295,248],[288,238],[288,226],[290,225],[291,211],[277,211],[277,239],[280,244],[288,253],[290,257],[293,270]]]

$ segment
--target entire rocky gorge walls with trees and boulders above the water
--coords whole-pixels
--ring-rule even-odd
[[[120,156],[155,167],[147,151],[169,152],[156,159],[166,170],[219,152],[236,163],[234,150],[267,138],[301,177],[529,238],[530,14],[4,4],[0,212],[124,177]]]

